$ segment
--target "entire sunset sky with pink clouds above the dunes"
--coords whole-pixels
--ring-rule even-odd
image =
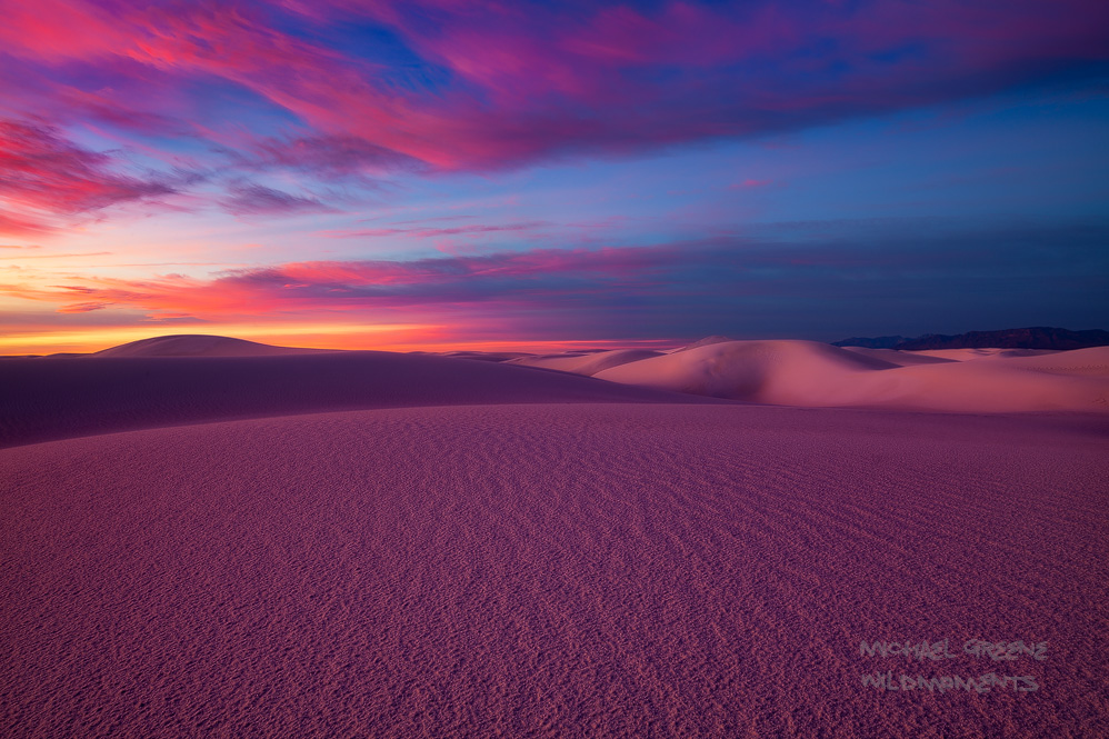
[[[1109,328],[1103,0],[0,10],[0,353]]]

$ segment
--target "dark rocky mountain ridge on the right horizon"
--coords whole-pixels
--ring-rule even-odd
[[[891,339],[900,339],[889,343]],[[1069,329],[1037,326],[1025,329],[1002,329],[999,331],[968,331],[948,336],[926,333],[915,339],[905,337],[878,337],[875,339],[853,337],[836,341],[836,347],[866,347],[869,349],[898,349],[900,351],[927,351],[933,349],[1088,349],[1109,346],[1109,331],[1091,329],[1071,331]]]

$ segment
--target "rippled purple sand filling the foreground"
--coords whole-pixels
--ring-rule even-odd
[[[1107,436],[607,402],[0,450],[0,736],[1106,736]],[[943,637],[1048,659],[859,656]]]

